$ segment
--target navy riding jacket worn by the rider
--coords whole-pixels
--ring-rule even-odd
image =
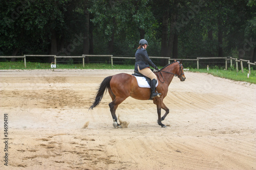
[[[156,65],[151,61],[151,59],[148,57],[147,52],[144,48],[139,48],[135,53],[135,70],[138,70],[138,65],[140,70],[146,67],[150,67],[150,65],[155,68]]]

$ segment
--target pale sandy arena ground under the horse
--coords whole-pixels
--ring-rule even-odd
[[[114,129],[109,93],[88,109],[119,72],[133,70],[0,70],[0,169],[256,169],[255,85],[185,72],[164,99],[167,128],[152,101],[128,98],[117,114],[130,124]]]

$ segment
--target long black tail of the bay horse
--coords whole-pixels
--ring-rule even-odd
[[[96,94],[96,98],[95,98],[95,101],[93,103],[93,105],[89,108],[90,109],[93,109],[95,108],[96,106],[99,105],[103,95],[104,95],[104,91],[108,90],[108,88],[110,88],[110,81],[112,79],[112,76],[109,76],[109,77],[106,77],[100,84],[99,88],[98,88],[98,92]]]

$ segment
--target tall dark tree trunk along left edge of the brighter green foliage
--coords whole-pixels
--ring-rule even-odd
[[[88,4],[87,1],[84,3],[84,15],[86,16],[85,20],[85,29],[84,29],[84,39],[83,39],[83,54],[89,54],[90,50],[90,37],[89,37],[89,30],[90,30],[90,14],[88,11]],[[86,63],[89,63],[89,57],[86,57]]]

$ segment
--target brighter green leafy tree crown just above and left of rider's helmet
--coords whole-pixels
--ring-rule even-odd
[[[93,1],[89,9],[94,15],[92,22],[97,28],[97,33],[102,32],[104,39],[108,40],[109,54],[114,53],[114,45],[122,48],[122,45],[128,45],[134,48],[140,39],[150,40],[154,17],[148,2],[148,0]]]

